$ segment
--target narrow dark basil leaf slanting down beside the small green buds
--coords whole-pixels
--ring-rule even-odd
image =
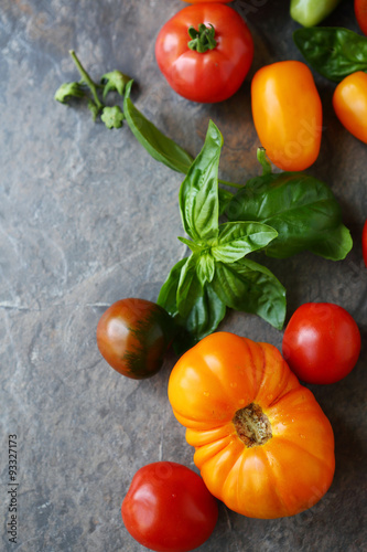
[[[134,107],[130,99],[132,82],[129,81],[126,85],[123,98],[123,115],[132,134],[153,159],[164,163],[174,171],[186,174],[193,162],[192,156],[175,141],[171,140],[171,138],[163,135]]]

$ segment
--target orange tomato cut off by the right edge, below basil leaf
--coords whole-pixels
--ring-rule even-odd
[[[335,88],[333,106],[342,125],[367,144],[367,74],[357,71]]]

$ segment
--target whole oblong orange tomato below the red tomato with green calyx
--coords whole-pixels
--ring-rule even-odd
[[[277,167],[302,171],[317,159],[322,104],[304,63],[287,61],[260,68],[252,78],[251,103],[258,137]]]

